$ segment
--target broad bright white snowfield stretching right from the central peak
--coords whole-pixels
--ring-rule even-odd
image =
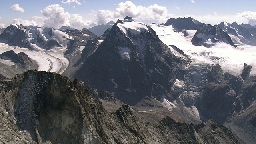
[[[244,63],[252,65],[251,74],[256,74],[256,46],[239,45],[237,48],[224,42],[215,43],[214,46],[194,46],[191,40],[196,30],[187,30],[188,36],[176,32],[172,26],[158,24],[147,24],[156,31],[159,39],[162,40],[171,50],[175,45],[192,59],[192,63],[220,64],[224,72],[241,74]],[[177,53],[174,51],[174,53]],[[179,56],[178,54],[176,54]]]

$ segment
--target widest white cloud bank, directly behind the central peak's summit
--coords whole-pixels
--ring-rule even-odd
[[[144,7],[136,6],[131,1],[120,2],[116,11],[98,10],[96,12],[98,24],[106,24],[110,20],[122,19],[125,16],[131,16],[140,21],[158,21],[168,20],[172,15],[168,13],[167,8],[157,4]]]

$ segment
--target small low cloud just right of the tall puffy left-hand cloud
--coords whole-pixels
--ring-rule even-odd
[[[91,20],[83,20],[82,16],[80,14],[72,14],[71,16],[71,25],[72,26],[84,26],[84,27],[89,27],[89,26],[96,26],[95,22],[92,22]]]

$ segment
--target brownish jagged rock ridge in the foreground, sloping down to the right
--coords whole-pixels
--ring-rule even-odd
[[[144,122],[127,105],[107,112],[78,80],[26,71],[0,83],[0,143],[238,144],[215,120]]]

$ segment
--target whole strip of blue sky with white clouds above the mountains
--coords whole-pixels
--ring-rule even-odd
[[[207,24],[256,24],[255,0],[0,0],[0,4],[0,28],[12,23],[89,28],[124,16],[159,24],[188,16]]]

